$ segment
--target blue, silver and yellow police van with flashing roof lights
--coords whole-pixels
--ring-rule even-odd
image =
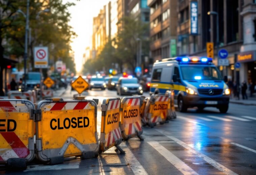
[[[180,112],[189,107],[216,107],[228,111],[230,90],[219,70],[207,57],[175,57],[155,62],[150,94],[174,90]]]

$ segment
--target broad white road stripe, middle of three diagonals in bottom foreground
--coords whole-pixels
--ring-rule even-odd
[[[156,141],[148,142],[155,150],[157,150],[164,158],[166,158],[173,166],[175,166],[182,174],[189,175],[189,174],[196,174],[192,168],[187,166],[184,162],[182,162],[178,157],[176,157],[173,153],[171,153],[168,149],[160,145]]]

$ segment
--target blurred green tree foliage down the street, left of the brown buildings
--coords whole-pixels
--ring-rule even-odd
[[[113,63],[118,63],[120,72],[126,66],[134,70],[139,42],[142,42],[142,55],[149,53],[149,39],[147,32],[149,26],[132,17],[124,17],[118,23],[124,24],[116,37],[107,42],[104,49],[96,57],[85,62],[84,72],[94,73],[96,70],[113,68]]]

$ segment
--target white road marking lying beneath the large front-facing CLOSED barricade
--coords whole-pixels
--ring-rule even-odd
[[[64,162],[59,165],[30,165],[24,172],[27,171],[40,171],[40,170],[62,170],[62,169],[78,169],[81,163],[80,159]]]

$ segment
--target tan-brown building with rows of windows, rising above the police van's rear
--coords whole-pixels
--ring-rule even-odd
[[[176,56],[177,0],[148,0],[153,61]]]

